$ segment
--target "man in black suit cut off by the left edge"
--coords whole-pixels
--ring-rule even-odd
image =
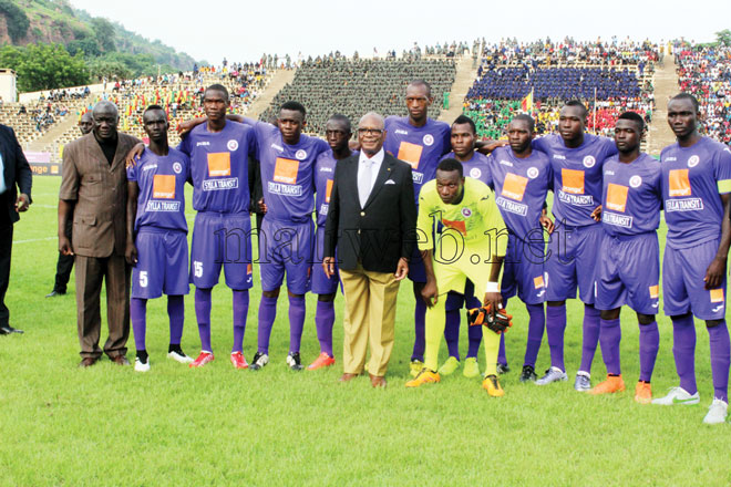
[[[0,334],[22,333],[10,325],[6,292],[10,281],[12,226],[31,204],[33,175],[12,128],[0,125]],[[20,189],[20,195],[18,194]]]

